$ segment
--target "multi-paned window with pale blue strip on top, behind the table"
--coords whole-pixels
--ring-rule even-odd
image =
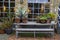
[[[35,21],[40,14],[50,12],[50,0],[28,0],[28,8],[28,20]]]

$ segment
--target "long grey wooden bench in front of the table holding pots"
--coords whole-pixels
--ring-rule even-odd
[[[21,32],[22,31],[22,32]],[[25,32],[23,32],[25,31]],[[29,31],[29,32],[27,32]],[[36,32],[38,31],[38,32]],[[18,33],[34,33],[34,37],[36,33],[52,33],[54,34],[54,29],[31,29],[31,28],[17,28],[16,29],[16,37],[18,37]]]

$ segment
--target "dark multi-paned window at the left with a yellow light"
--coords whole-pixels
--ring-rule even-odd
[[[7,12],[14,14],[15,0],[0,0],[0,19],[7,17]],[[1,21],[0,21],[1,22]]]

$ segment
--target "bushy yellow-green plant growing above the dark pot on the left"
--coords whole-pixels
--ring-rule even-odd
[[[3,17],[1,18],[1,20],[2,20],[2,24],[0,25],[1,29],[10,28],[13,24],[14,14],[9,14],[9,12],[7,12],[7,18]]]

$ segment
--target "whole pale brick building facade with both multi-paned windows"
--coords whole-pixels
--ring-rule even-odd
[[[57,12],[60,0],[0,0],[0,18],[7,17],[6,13],[15,14],[20,6],[25,9],[29,8],[31,12],[28,14],[29,21],[35,21],[35,17],[41,13]],[[43,11],[42,11],[42,10]]]

